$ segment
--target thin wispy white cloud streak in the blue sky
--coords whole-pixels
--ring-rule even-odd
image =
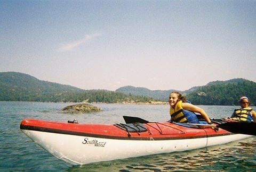
[[[89,42],[90,40],[94,39],[95,37],[99,37],[101,34],[99,33],[95,33],[93,35],[86,35],[83,39],[79,39],[77,41],[71,42],[69,44],[63,44],[59,50],[60,51],[70,51],[73,50],[76,47],[79,47],[83,44],[85,44],[86,42]]]

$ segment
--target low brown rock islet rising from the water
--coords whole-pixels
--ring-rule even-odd
[[[79,114],[79,113],[89,113],[92,111],[101,111],[102,109],[90,104],[75,104],[66,106],[65,108],[61,109],[63,113],[70,113],[70,114]]]

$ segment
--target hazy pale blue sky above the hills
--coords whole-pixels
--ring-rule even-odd
[[[256,0],[0,0],[0,72],[85,90],[256,82]]]

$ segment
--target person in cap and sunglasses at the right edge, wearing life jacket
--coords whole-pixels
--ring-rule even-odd
[[[238,102],[241,107],[235,109],[234,113],[231,116],[231,119],[235,119],[238,121],[256,121],[256,112],[251,107],[249,107],[249,99],[243,96],[239,98]]]

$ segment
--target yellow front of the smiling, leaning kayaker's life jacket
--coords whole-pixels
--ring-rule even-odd
[[[171,120],[177,123],[187,123],[188,119],[183,114],[182,100],[178,101],[175,107],[170,107]]]

